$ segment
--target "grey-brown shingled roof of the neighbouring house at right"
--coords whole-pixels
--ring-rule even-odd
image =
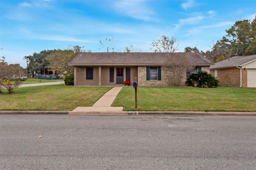
[[[225,67],[236,67],[248,63],[256,59],[256,54],[248,56],[234,56],[232,58],[222,60],[210,66],[210,69],[225,68]]]

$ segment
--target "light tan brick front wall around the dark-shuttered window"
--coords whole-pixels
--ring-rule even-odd
[[[199,66],[201,67],[201,66]],[[210,66],[202,66],[202,71],[210,73]],[[185,70],[184,70],[185,71]],[[167,72],[162,67],[161,69],[161,80],[147,80],[146,78],[146,66],[138,66],[138,85],[139,86],[173,86],[173,81],[167,77]],[[186,86],[186,75],[182,82],[181,86]]]

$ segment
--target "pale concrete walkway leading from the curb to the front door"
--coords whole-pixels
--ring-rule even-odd
[[[116,96],[122,89],[122,86],[117,86],[106,92],[97,102],[95,102],[90,107],[77,107],[69,114],[79,114],[79,113],[88,113],[88,112],[108,112],[108,111],[123,111],[123,107],[111,107]]]

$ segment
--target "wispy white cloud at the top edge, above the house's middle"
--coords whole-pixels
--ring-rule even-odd
[[[153,18],[154,11],[146,6],[145,1],[115,1],[113,6],[114,10],[132,18],[155,20]]]

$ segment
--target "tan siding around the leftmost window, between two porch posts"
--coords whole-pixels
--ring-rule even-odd
[[[99,85],[99,67],[93,68],[93,80],[86,80],[86,67],[77,66],[77,86]]]

